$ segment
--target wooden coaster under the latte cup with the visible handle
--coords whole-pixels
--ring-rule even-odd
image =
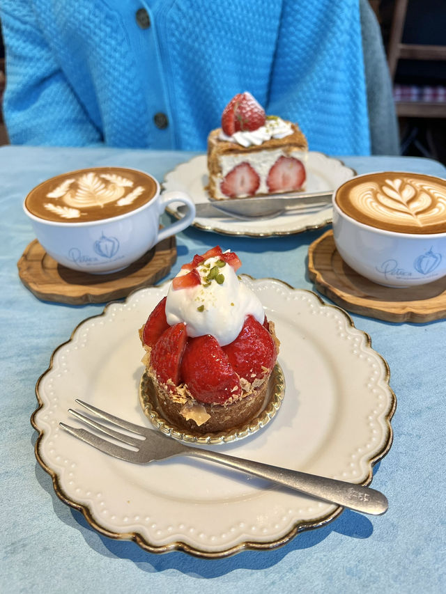
[[[66,268],[33,240],[17,263],[24,286],[44,301],[82,305],[126,297],[135,289],[155,284],[176,261],[175,237],[155,245],[139,260],[113,274],[87,274]]]

